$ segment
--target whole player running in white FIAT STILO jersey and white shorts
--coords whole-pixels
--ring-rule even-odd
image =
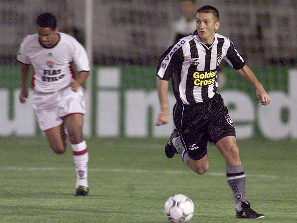
[[[17,55],[22,72],[19,99],[25,103],[28,97],[27,74],[32,66],[33,108],[38,124],[57,154],[65,151],[70,140],[76,169],[76,196],[86,196],[89,154],[82,134],[86,108],[81,85],[90,71],[87,53],[73,37],[58,32],[54,15],[39,15],[36,25],[38,33],[25,37]],[[79,71],[78,77],[73,62]]]

